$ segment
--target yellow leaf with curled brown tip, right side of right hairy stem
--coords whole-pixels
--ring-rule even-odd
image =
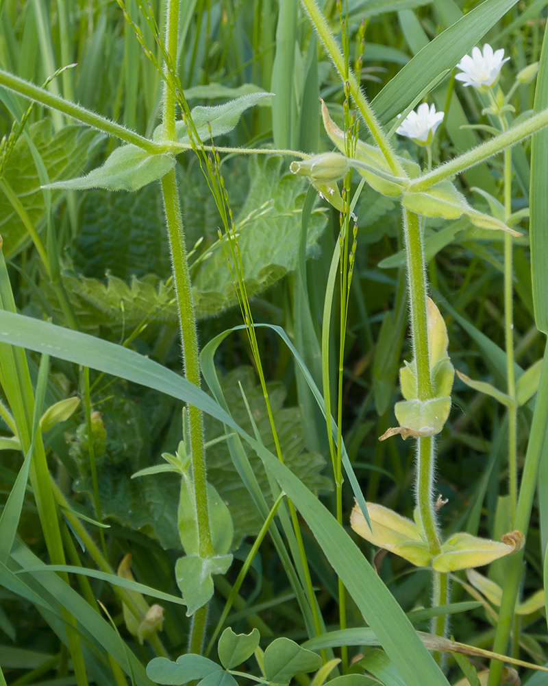
[[[502,536],[502,540],[499,543],[460,532],[442,545],[440,554],[432,560],[432,567],[436,571],[482,567],[519,550],[525,543],[525,536],[521,531],[514,531]]]

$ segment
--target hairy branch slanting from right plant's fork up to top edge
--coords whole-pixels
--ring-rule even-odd
[[[356,102],[358,110],[360,110],[360,113],[364,118],[365,123],[371,131],[371,135],[377,142],[377,145],[381,149],[382,154],[384,154],[384,157],[386,158],[386,161],[390,166],[390,169],[392,169],[396,176],[403,176],[404,178],[406,178],[407,174],[405,169],[403,169],[403,167],[399,163],[399,160],[393,150],[393,147],[390,145],[390,142],[388,141],[386,134],[384,133],[381,125],[375,118],[375,115],[373,114],[373,110],[371,109],[369,102],[367,102],[367,98],[360,90],[360,85],[356,81],[356,77],[353,75],[351,71],[349,71],[347,60],[345,60],[343,54],[338,48],[338,45],[336,44],[332,32],[329,31],[327,21],[325,21],[325,17],[323,16],[320,8],[318,7],[318,5],[316,5],[316,2],[314,0],[301,1],[303,3],[303,7],[310,16],[310,21],[312,21],[314,28],[318,32],[320,40],[322,41],[323,45],[325,45],[325,49],[329,53],[329,57],[333,60],[336,70],[340,74],[340,78],[343,79],[343,82],[346,80],[346,75],[348,74],[350,93],[354,99],[354,102]]]

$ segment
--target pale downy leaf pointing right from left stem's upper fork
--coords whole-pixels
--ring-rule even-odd
[[[229,100],[229,102],[225,102],[223,105],[193,108],[190,114],[201,141],[205,142],[210,138],[222,136],[232,131],[238,121],[240,121],[240,117],[245,110],[255,106],[260,100],[269,95],[273,95],[273,93],[266,93],[266,91],[249,93],[248,95],[237,97],[235,100]],[[175,134],[177,136],[177,143],[190,143],[184,121],[177,121],[175,124]],[[160,139],[162,139],[162,125],[157,126],[153,133],[154,141],[160,141]]]

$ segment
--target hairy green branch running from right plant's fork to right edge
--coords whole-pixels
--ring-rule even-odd
[[[534,117],[530,117],[530,119],[518,124],[518,126],[513,126],[508,131],[490,139],[490,141],[478,145],[473,150],[469,150],[469,152],[465,152],[455,159],[429,171],[428,174],[424,174],[417,180],[410,182],[408,190],[411,192],[425,191],[435,183],[460,174],[462,171],[469,169],[469,167],[474,167],[487,158],[502,152],[507,147],[523,141],[523,139],[532,136],[532,134],[545,126],[548,126],[548,109],[543,110],[538,115],[534,115]]]

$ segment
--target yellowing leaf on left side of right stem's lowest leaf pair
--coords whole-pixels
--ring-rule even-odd
[[[351,527],[362,539],[386,548],[418,567],[429,564],[431,556],[427,544],[414,521],[376,503],[367,503],[367,512],[371,528],[358,504],[350,516]]]

